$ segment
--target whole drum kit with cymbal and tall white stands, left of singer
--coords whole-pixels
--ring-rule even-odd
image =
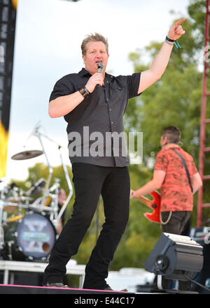
[[[33,134],[43,147],[41,137],[48,137],[40,133],[39,126],[36,126]],[[73,194],[71,179],[62,159],[61,146],[58,145],[58,149],[69,186],[69,195],[61,209],[58,204],[59,179],[55,178],[55,183],[50,187],[52,168],[44,147],[42,151],[27,150],[11,157],[18,161],[44,154],[49,177],[47,180],[39,179],[28,191],[23,191],[14,184],[6,185],[0,179],[0,259],[45,262],[50,256],[52,246],[59,236],[56,231],[59,220]]]

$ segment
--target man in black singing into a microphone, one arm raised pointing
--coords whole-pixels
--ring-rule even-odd
[[[50,96],[49,115],[64,116],[68,123],[69,156],[76,197],[71,218],[52,248],[45,268],[44,286],[64,287],[62,279],[66,263],[77,253],[102,194],[105,222],[85,268],[83,288],[111,290],[105,279],[129,217],[129,158],[122,154],[123,145],[120,145],[119,154],[115,155],[112,142],[99,145],[99,155],[95,155],[95,151],[92,154],[94,138],[83,142],[84,134],[88,132],[92,137],[100,134],[106,140],[107,132],[124,131],[123,115],[127,101],[161,78],[174,41],[185,33],[181,27],[183,21],[179,20],[169,30],[148,71],[118,77],[107,74],[108,42],[104,36],[94,34],[87,36],[81,45],[85,68],[79,73],[64,76],[55,84]],[[101,71],[98,71],[99,62],[104,64]],[[80,137],[79,142],[71,138],[72,134]]]

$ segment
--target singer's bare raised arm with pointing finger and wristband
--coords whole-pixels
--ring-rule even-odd
[[[182,18],[178,22],[176,22],[172,28],[169,30],[168,38],[171,40],[178,40],[185,31],[181,27],[181,23],[184,22],[186,19]],[[139,83],[139,91],[138,94],[153,85],[153,83],[159,80],[162,74],[165,72],[167,68],[167,64],[169,62],[170,55],[172,53],[173,45],[169,45],[168,43],[164,42],[160,52],[158,52],[157,56],[155,57],[151,68],[147,71],[141,73],[141,79]]]

